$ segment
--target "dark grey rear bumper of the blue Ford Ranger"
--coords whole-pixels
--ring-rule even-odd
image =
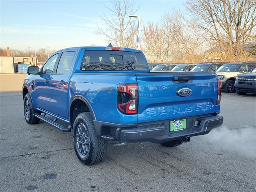
[[[163,143],[178,140],[186,136],[208,134],[212,129],[223,123],[222,116],[200,116],[186,118],[186,130],[170,132],[170,121],[150,122],[138,124],[136,127],[112,127],[108,136],[102,138],[121,142],[153,142]],[[197,125],[195,125],[197,124]],[[111,129],[113,131],[111,131]]]

